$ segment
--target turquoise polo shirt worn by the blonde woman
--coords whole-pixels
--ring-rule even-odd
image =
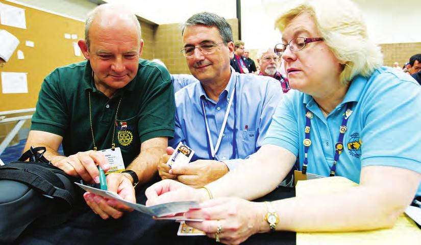
[[[356,76],[343,102],[326,118],[313,97],[290,91],[282,100],[263,144],[281,146],[304,161],[306,108],[311,119],[307,172],[329,176],[347,103],[353,113],[343,138],[336,175],[356,183],[361,167],[393,166],[421,173],[421,87],[404,72],[381,67],[370,77]],[[421,187],[421,186],[420,186]],[[421,195],[418,188],[417,195]]]

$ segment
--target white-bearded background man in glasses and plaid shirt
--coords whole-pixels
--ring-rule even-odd
[[[278,71],[280,57],[275,54],[273,46],[259,50],[257,57],[257,62],[260,65],[259,75],[275,78],[281,83],[282,91],[288,92],[290,89],[288,79]]]

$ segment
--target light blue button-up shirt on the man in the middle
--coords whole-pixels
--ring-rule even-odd
[[[236,97],[231,98],[234,86]],[[211,159],[202,101],[215,147],[229,100],[234,100],[215,155],[215,160],[224,161],[232,170],[241,159],[245,159],[260,148],[272,115],[283,96],[281,86],[276,79],[253,74],[238,74],[232,68],[230,81],[219,95],[218,102],[209,99],[201,83],[190,84],[176,93],[175,135],[168,144],[176,148],[180,141],[185,142],[195,151],[191,161]],[[236,134],[234,145],[237,146],[235,155],[233,155],[234,130]]]

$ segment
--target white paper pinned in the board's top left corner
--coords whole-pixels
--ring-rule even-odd
[[[0,3],[1,4],[1,3]],[[1,4],[0,24],[27,29],[25,10],[15,6]]]

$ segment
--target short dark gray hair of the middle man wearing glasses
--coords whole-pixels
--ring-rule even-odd
[[[185,23],[182,24],[181,35],[184,34],[184,29],[186,29],[186,27],[197,26],[199,24],[210,28],[216,27],[219,31],[219,35],[221,36],[222,41],[233,41],[230,23],[228,23],[224,17],[209,12],[202,12],[192,15]]]

